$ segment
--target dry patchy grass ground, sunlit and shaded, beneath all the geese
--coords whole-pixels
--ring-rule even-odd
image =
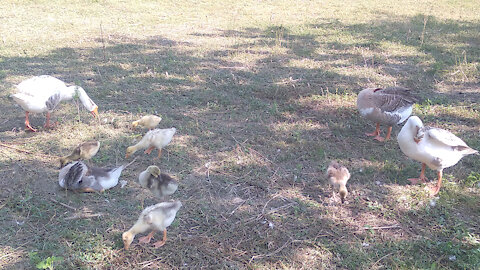
[[[420,164],[364,137],[355,109],[362,88],[406,86],[415,114],[480,149],[478,14],[473,0],[2,1],[0,268],[480,268],[478,157],[432,199],[407,184]],[[101,121],[67,103],[58,128],[25,132],[9,94],[40,74],[83,86]],[[84,140],[102,143],[95,164],[128,162],[147,113],[178,130],[160,160],[136,154],[123,189],[58,187],[57,157]],[[345,205],[332,159],[352,173]],[[152,164],[184,206],[164,247],[125,251],[156,203],[133,181]],[[65,219],[81,212],[103,215]]]

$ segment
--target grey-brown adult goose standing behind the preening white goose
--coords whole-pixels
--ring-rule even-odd
[[[357,108],[360,115],[374,121],[377,126],[367,136],[375,136],[377,141],[390,139],[392,126],[398,125],[412,114],[413,104],[418,99],[403,87],[367,88],[358,93]],[[387,136],[380,136],[380,124],[388,125]]]

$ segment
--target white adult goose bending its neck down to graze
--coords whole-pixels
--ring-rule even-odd
[[[63,81],[49,75],[41,75],[24,80],[17,85],[17,93],[11,97],[25,110],[25,126],[34,129],[28,120],[29,113],[47,112],[45,127],[50,126],[50,113],[61,101],[71,100],[77,96],[83,106],[98,116],[98,106],[88,97],[80,86],[67,86]]]

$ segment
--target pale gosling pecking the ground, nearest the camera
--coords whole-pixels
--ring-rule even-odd
[[[167,227],[172,224],[178,210],[182,207],[180,201],[162,202],[145,208],[140,214],[137,222],[130,230],[122,234],[123,246],[125,249],[130,247],[135,235],[151,230],[144,237],[141,237],[139,243],[150,243],[156,231],[163,231],[163,239],[153,244],[155,248],[159,248],[167,241]]]

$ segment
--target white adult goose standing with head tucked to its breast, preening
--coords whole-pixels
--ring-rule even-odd
[[[437,171],[438,181],[431,190],[432,195],[440,190],[443,169],[457,164],[464,156],[478,153],[450,131],[424,126],[417,116],[408,119],[397,140],[405,155],[422,163],[420,177],[408,179],[412,184],[427,181],[426,166]]]

